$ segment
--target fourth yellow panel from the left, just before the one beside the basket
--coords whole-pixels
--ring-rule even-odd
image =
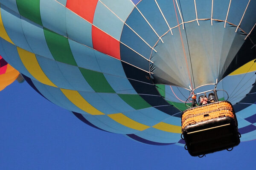
[[[109,114],[108,116],[111,119],[113,119],[114,121],[120,123],[121,125],[124,125],[126,127],[130,127],[132,129],[145,130],[145,129],[149,128],[149,126],[143,125],[139,122],[136,122],[133,119],[128,118],[127,116],[125,116],[122,113]]]

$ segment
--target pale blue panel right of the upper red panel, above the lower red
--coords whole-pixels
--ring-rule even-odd
[[[93,25],[116,40],[120,40],[124,23],[102,3],[98,2],[94,12]]]

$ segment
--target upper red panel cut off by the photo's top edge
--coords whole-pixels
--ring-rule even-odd
[[[93,23],[97,3],[98,0],[67,0],[66,7],[88,22]]]

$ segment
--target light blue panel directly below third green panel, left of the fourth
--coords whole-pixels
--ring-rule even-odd
[[[110,93],[98,93],[103,100],[105,100],[109,105],[115,108],[119,113],[125,111],[135,111],[130,105],[123,101],[117,94]]]

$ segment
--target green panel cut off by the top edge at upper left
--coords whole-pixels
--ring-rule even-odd
[[[40,0],[16,0],[16,4],[21,16],[43,25],[40,15]]]

